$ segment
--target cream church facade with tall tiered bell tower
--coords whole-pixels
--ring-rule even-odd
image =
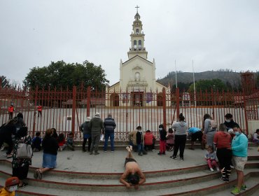
[[[155,59],[152,62],[148,60],[144,45],[145,34],[138,12],[134,16],[132,27],[128,59],[125,62],[120,59],[120,81],[106,87],[106,106],[161,106],[162,90],[165,88],[168,93],[170,87],[155,79]],[[170,102],[167,106],[169,104]]]

